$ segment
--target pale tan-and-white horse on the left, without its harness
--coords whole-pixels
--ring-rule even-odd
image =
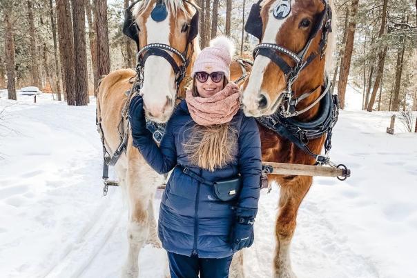
[[[167,10],[166,18],[163,20],[151,16],[158,4],[163,4]],[[157,123],[165,123],[171,117],[175,100],[184,95],[187,77],[195,57],[200,52],[198,38],[191,38],[191,33],[197,28],[193,26],[196,13],[194,1],[143,0],[133,6],[129,18],[131,22],[125,22],[128,36],[135,39],[140,46],[139,51],[142,50],[140,55],[142,72],[139,73],[142,77],[140,94],[144,98],[146,117]],[[133,27],[135,28],[131,29]],[[144,49],[147,46],[159,50],[153,48],[148,51],[153,54],[144,59],[147,55]],[[169,57],[158,55],[162,51]],[[184,63],[184,59],[177,53],[182,54],[187,63]],[[184,79],[178,79],[173,63],[178,67],[184,66],[182,68],[185,71]],[[249,73],[250,68],[251,65],[248,63],[242,65],[241,62],[233,61],[232,81],[240,79],[244,72]],[[125,92],[133,86],[136,76],[137,72],[130,69],[110,72],[101,80],[97,92],[97,123],[102,133],[105,151],[113,155],[123,135],[127,138],[125,151],[115,163],[119,185],[128,200],[128,255],[122,269],[122,277],[138,276],[139,250],[144,244],[150,243],[160,247],[153,215],[153,197],[157,186],[163,183],[164,178],[157,175],[144,161],[137,148],[132,146],[126,118],[128,97]],[[241,261],[239,256],[237,259]],[[241,264],[237,264],[235,268],[237,273],[242,272]]]

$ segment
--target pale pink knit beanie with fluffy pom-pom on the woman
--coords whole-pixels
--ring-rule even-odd
[[[210,41],[210,46],[204,48],[195,59],[193,72],[224,72],[224,76],[230,81],[230,63],[232,61],[235,46],[231,39],[220,36]]]

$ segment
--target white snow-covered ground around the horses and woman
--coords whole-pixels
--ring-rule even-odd
[[[117,277],[127,214],[119,188],[102,195],[95,99],[70,107],[48,94],[0,95],[0,277]],[[349,90],[333,133],[331,158],[352,177],[316,178],[300,207],[291,249],[300,278],[416,277],[417,134],[398,122],[388,135],[391,113],[360,111],[361,100]],[[278,197],[276,186],[262,191],[247,277],[271,277]],[[141,277],[162,277],[164,256],[145,246]]]

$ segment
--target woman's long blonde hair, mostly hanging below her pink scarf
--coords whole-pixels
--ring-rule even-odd
[[[224,78],[223,88],[228,81]],[[193,96],[197,97],[195,78],[191,84]],[[229,123],[215,126],[200,126],[191,128],[191,137],[183,143],[184,152],[190,162],[200,168],[213,172],[215,168],[223,168],[233,161],[237,152],[237,130]]]

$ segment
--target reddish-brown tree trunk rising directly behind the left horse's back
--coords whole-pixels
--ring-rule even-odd
[[[95,0],[97,32],[97,75],[101,79],[110,72],[110,49],[108,46],[107,2]],[[97,88],[97,85],[95,85]]]

